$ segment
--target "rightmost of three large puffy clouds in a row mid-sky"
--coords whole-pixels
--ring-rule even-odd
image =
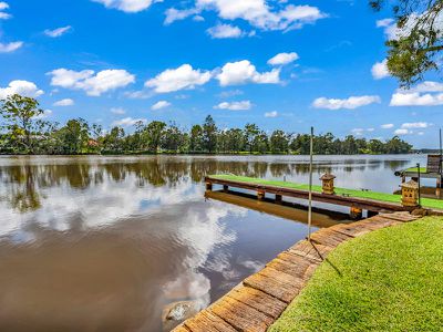
[[[259,73],[256,66],[248,60],[228,62],[217,75],[222,86],[238,85],[245,83],[277,84],[280,83],[280,70]]]

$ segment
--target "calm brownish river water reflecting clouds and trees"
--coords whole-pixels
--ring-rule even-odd
[[[329,170],[338,186],[392,193],[400,183],[393,172],[418,162],[425,157],[316,157],[315,179]],[[0,157],[0,331],[155,332],[166,304],[208,305],[303,238],[307,227],[302,210],[222,194],[207,199],[204,176],[307,181],[307,163]],[[315,219],[319,227],[340,221]]]

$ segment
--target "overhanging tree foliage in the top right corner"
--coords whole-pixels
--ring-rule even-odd
[[[392,6],[396,33],[387,42],[389,72],[402,86],[423,80],[423,74],[439,70],[443,50],[442,0],[370,0],[382,10]]]

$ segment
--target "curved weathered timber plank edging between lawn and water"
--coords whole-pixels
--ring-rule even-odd
[[[327,255],[341,242],[419,217],[382,214],[312,234],[281,252],[261,271],[246,278],[225,297],[186,320],[174,332],[265,332],[300,293]]]

